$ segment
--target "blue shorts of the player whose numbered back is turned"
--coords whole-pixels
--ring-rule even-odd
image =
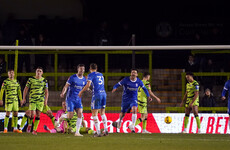
[[[91,109],[102,109],[106,106],[106,93],[94,94],[91,101]]]

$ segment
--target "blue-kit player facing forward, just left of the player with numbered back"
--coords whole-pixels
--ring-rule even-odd
[[[64,95],[67,91],[66,105],[67,105],[68,113],[67,113],[67,116],[65,116],[65,118],[68,118],[68,119],[73,118],[74,110],[77,113],[78,118],[77,118],[77,123],[76,123],[75,136],[83,136],[79,133],[81,123],[82,123],[83,106],[81,102],[81,97],[79,97],[78,94],[87,83],[86,78],[83,76],[84,73],[85,73],[85,65],[79,64],[77,66],[77,74],[74,74],[69,77],[69,79],[67,80],[60,94],[60,97],[64,98]]]

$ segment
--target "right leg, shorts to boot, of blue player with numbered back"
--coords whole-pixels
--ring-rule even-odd
[[[104,125],[104,135],[108,135],[108,127],[107,127],[107,117],[105,115],[105,107],[106,107],[106,94],[101,95],[101,119]]]

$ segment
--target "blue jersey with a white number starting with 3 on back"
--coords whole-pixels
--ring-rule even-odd
[[[93,94],[105,93],[104,77],[100,72],[92,72],[88,75],[88,81],[92,82]]]

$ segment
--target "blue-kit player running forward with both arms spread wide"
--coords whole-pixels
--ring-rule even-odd
[[[132,123],[129,125],[129,129],[132,131],[132,133],[135,133],[135,123],[137,120],[138,88],[141,87],[144,90],[146,96],[148,97],[148,100],[151,100],[147,88],[137,76],[138,76],[137,69],[131,69],[131,76],[125,77],[123,80],[118,82],[116,85],[114,85],[113,90],[112,90],[112,93],[114,93],[119,86],[123,86],[121,113],[120,113],[119,121],[117,124],[117,128],[121,127],[121,122],[125,116],[125,113],[127,112],[127,110],[131,108],[133,114],[132,114]]]

